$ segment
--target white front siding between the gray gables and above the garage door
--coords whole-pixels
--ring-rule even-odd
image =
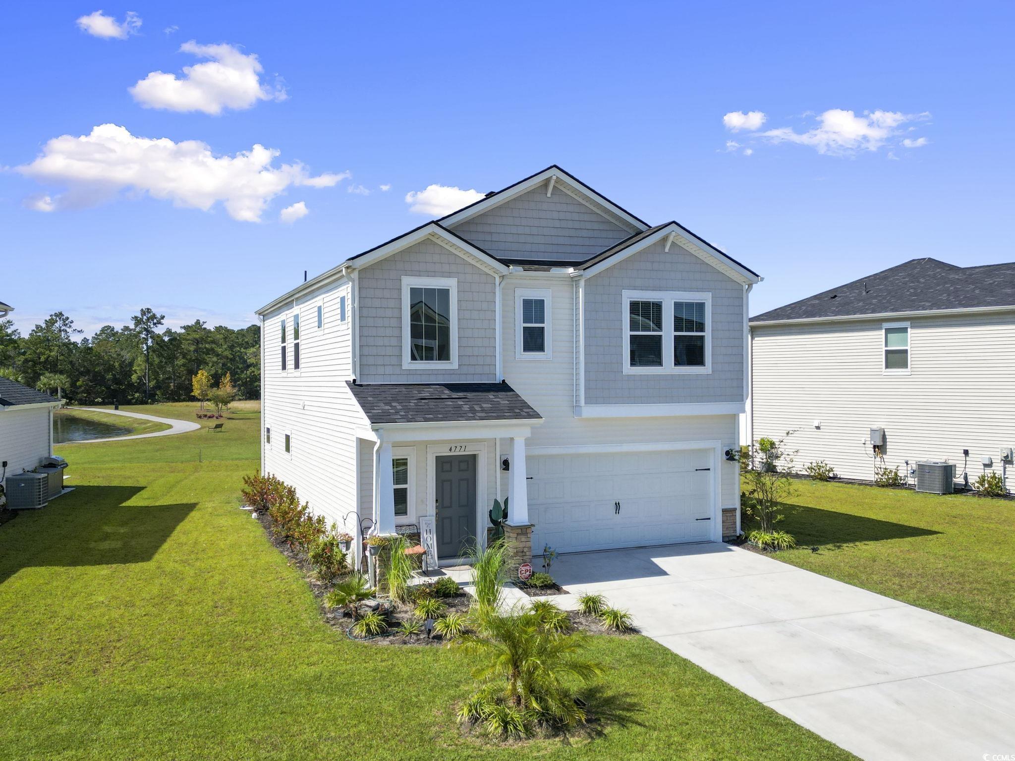
[[[556,191],[554,191],[555,193]],[[672,249],[671,249],[672,251]],[[608,272],[608,271],[607,271]],[[605,273],[603,273],[605,274]],[[597,275],[596,277],[601,277]],[[739,442],[736,415],[691,415],[681,417],[574,417],[574,286],[565,276],[534,277],[507,275],[504,278],[503,373],[507,384],[521,394],[543,417],[526,439],[529,452],[540,446],[584,444],[637,444],[644,442],[722,440],[723,451]],[[588,287],[588,284],[587,286]],[[516,359],[515,288],[545,288],[551,291],[552,358],[533,362]],[[620,313],[619,296],[616,308]],[[743,325],[740,326],[741,334]],[[619,334],[617,336],[619,341]],[[742,345],[742,344],[741,344]],[[619,343],[616,346],[619,355]],[[741,380],[741,389],[743,384]],[[614,403],[632,403],[636,397],[619,397]],[[510,453],[510,441],[501,439],[500,457]],[[740,472],[737,463],[723,461],[721,504],[732,507],[740,500]],[[507,474],[500,472],[501,494],[507,493]],[[541,548],[536,548],[537,550]]]

